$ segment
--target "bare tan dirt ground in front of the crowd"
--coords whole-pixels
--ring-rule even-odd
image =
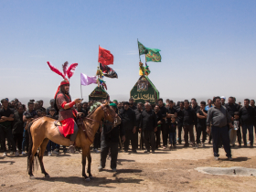
[[[113,173],[110,160],[104,171],[98,172],[100,154],[91,153],[91,174],[87,182],[81,176],[81,155],[60,154],[45,156],[44,163],[50,178],[44,178],[39,168],[36,179],[27,175],[27,156],[0,154],[0,191],[255,191],[255,176],[213,176],[199,173],[198,166],[256,168],[255,148],[231,149],[234,161],[227,161],[224,149],[220,160],[213,159],[212,145],[205,148],[157,150],[155,154],[118,155],[118,171]]]

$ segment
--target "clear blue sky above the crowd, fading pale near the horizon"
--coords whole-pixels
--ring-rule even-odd
[[[94,75],[98,47],[109,49],[119,79],[105,78],[111,99],[128,100],[139,78],[137,38],[161,49],[149,76],[164,99],[256,99],[255,0],[0,1],[0,98],[52,98],[62,80],[47,61],[78,62]],[[144,57],[143,57],[144,61]],[[83,87],[83,98],[96,85]]]

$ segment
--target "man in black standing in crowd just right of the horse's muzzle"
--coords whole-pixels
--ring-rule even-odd
[[[132,143],[133,153],[136,153],[136,115],[135,112],[129,107],[129,102],[123,103],[123,109],[120,112],[122,118],[122,125],[125,131],[125,142],[124,142],[124,152],[128,152],[130,141]]]

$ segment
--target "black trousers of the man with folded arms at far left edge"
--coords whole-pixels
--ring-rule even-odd
[[[12,145],[13,152],[16,152],[16,144],[12,134],[12,129],[5,129],[3,127],[0,127],[0,138],[1,146],[3,146],[4,152],[6,152],[5,138],[7,138],[8,143]]]

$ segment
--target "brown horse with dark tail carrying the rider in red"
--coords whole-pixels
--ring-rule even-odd
[[[113,123],[121,123],[121,119],[114,111],[112,111],[108,103],[101,104],[87,117],[84,117],[82,119],[82,123],[78,123],[79,132],[77,134],[75,144],[76,147],[80,147],[82,149],[82,176],[84,176],[88,181],[91,180],[90,146],[93,143],[94,135],[99,129],[102,119],[108,120],[112,125],[114,125]],[[42,173],[45,177],[49,177],[43,164],[43,156],[48,140],[56,144],[69,146],[69,139],[60,135],[54,122],[55,120],[51,118],[42,117],[28,124],[27,131],[29,133],[30,144],[27,156],[27,170],[30,178],[34,178],[32,168],[34,165],[34,156],[36,155],[38,157]],[[38,147],[39,152],[37,153]],[[89,177],[85,174],[86,157],[88,159],[87,173],[89,174]]]

